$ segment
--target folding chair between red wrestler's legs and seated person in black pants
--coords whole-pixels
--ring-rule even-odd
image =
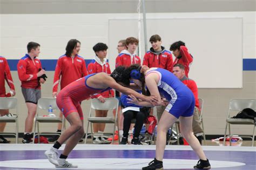
[[[92,109],[93,110],[114,110],[114,109],[116,109],[116,117],[115,117],[115,119],[113,119],[112,117],[91,117]],[[113,127],[113,136],[114,136],[114,130],[116,128],[116,125],[118,125],[117,111],[118,111],[118,99],[116,99],[116,98],[106,98],[105,103],[101,103],[98,99],[92,99],[90,113],[89,113],[89,117],[87,119],[88,123],[87,123],[87,130],[86,130],[84,144],[86,144],[87,137],[89,136],[89,134],[88,134],[89,124],[91,126],[91,134],[90,135],[93,136],[92,123],[114,124],[114,127]],[[118,126],[117,126],[117,128],[118,128]],[[119,139],[119,128],[118,128],[118,139]],[[120,142],[120,141],[118,140],[118,142]],[[114,138],[112,138],[112,144],[113,143],[114,143]]]

